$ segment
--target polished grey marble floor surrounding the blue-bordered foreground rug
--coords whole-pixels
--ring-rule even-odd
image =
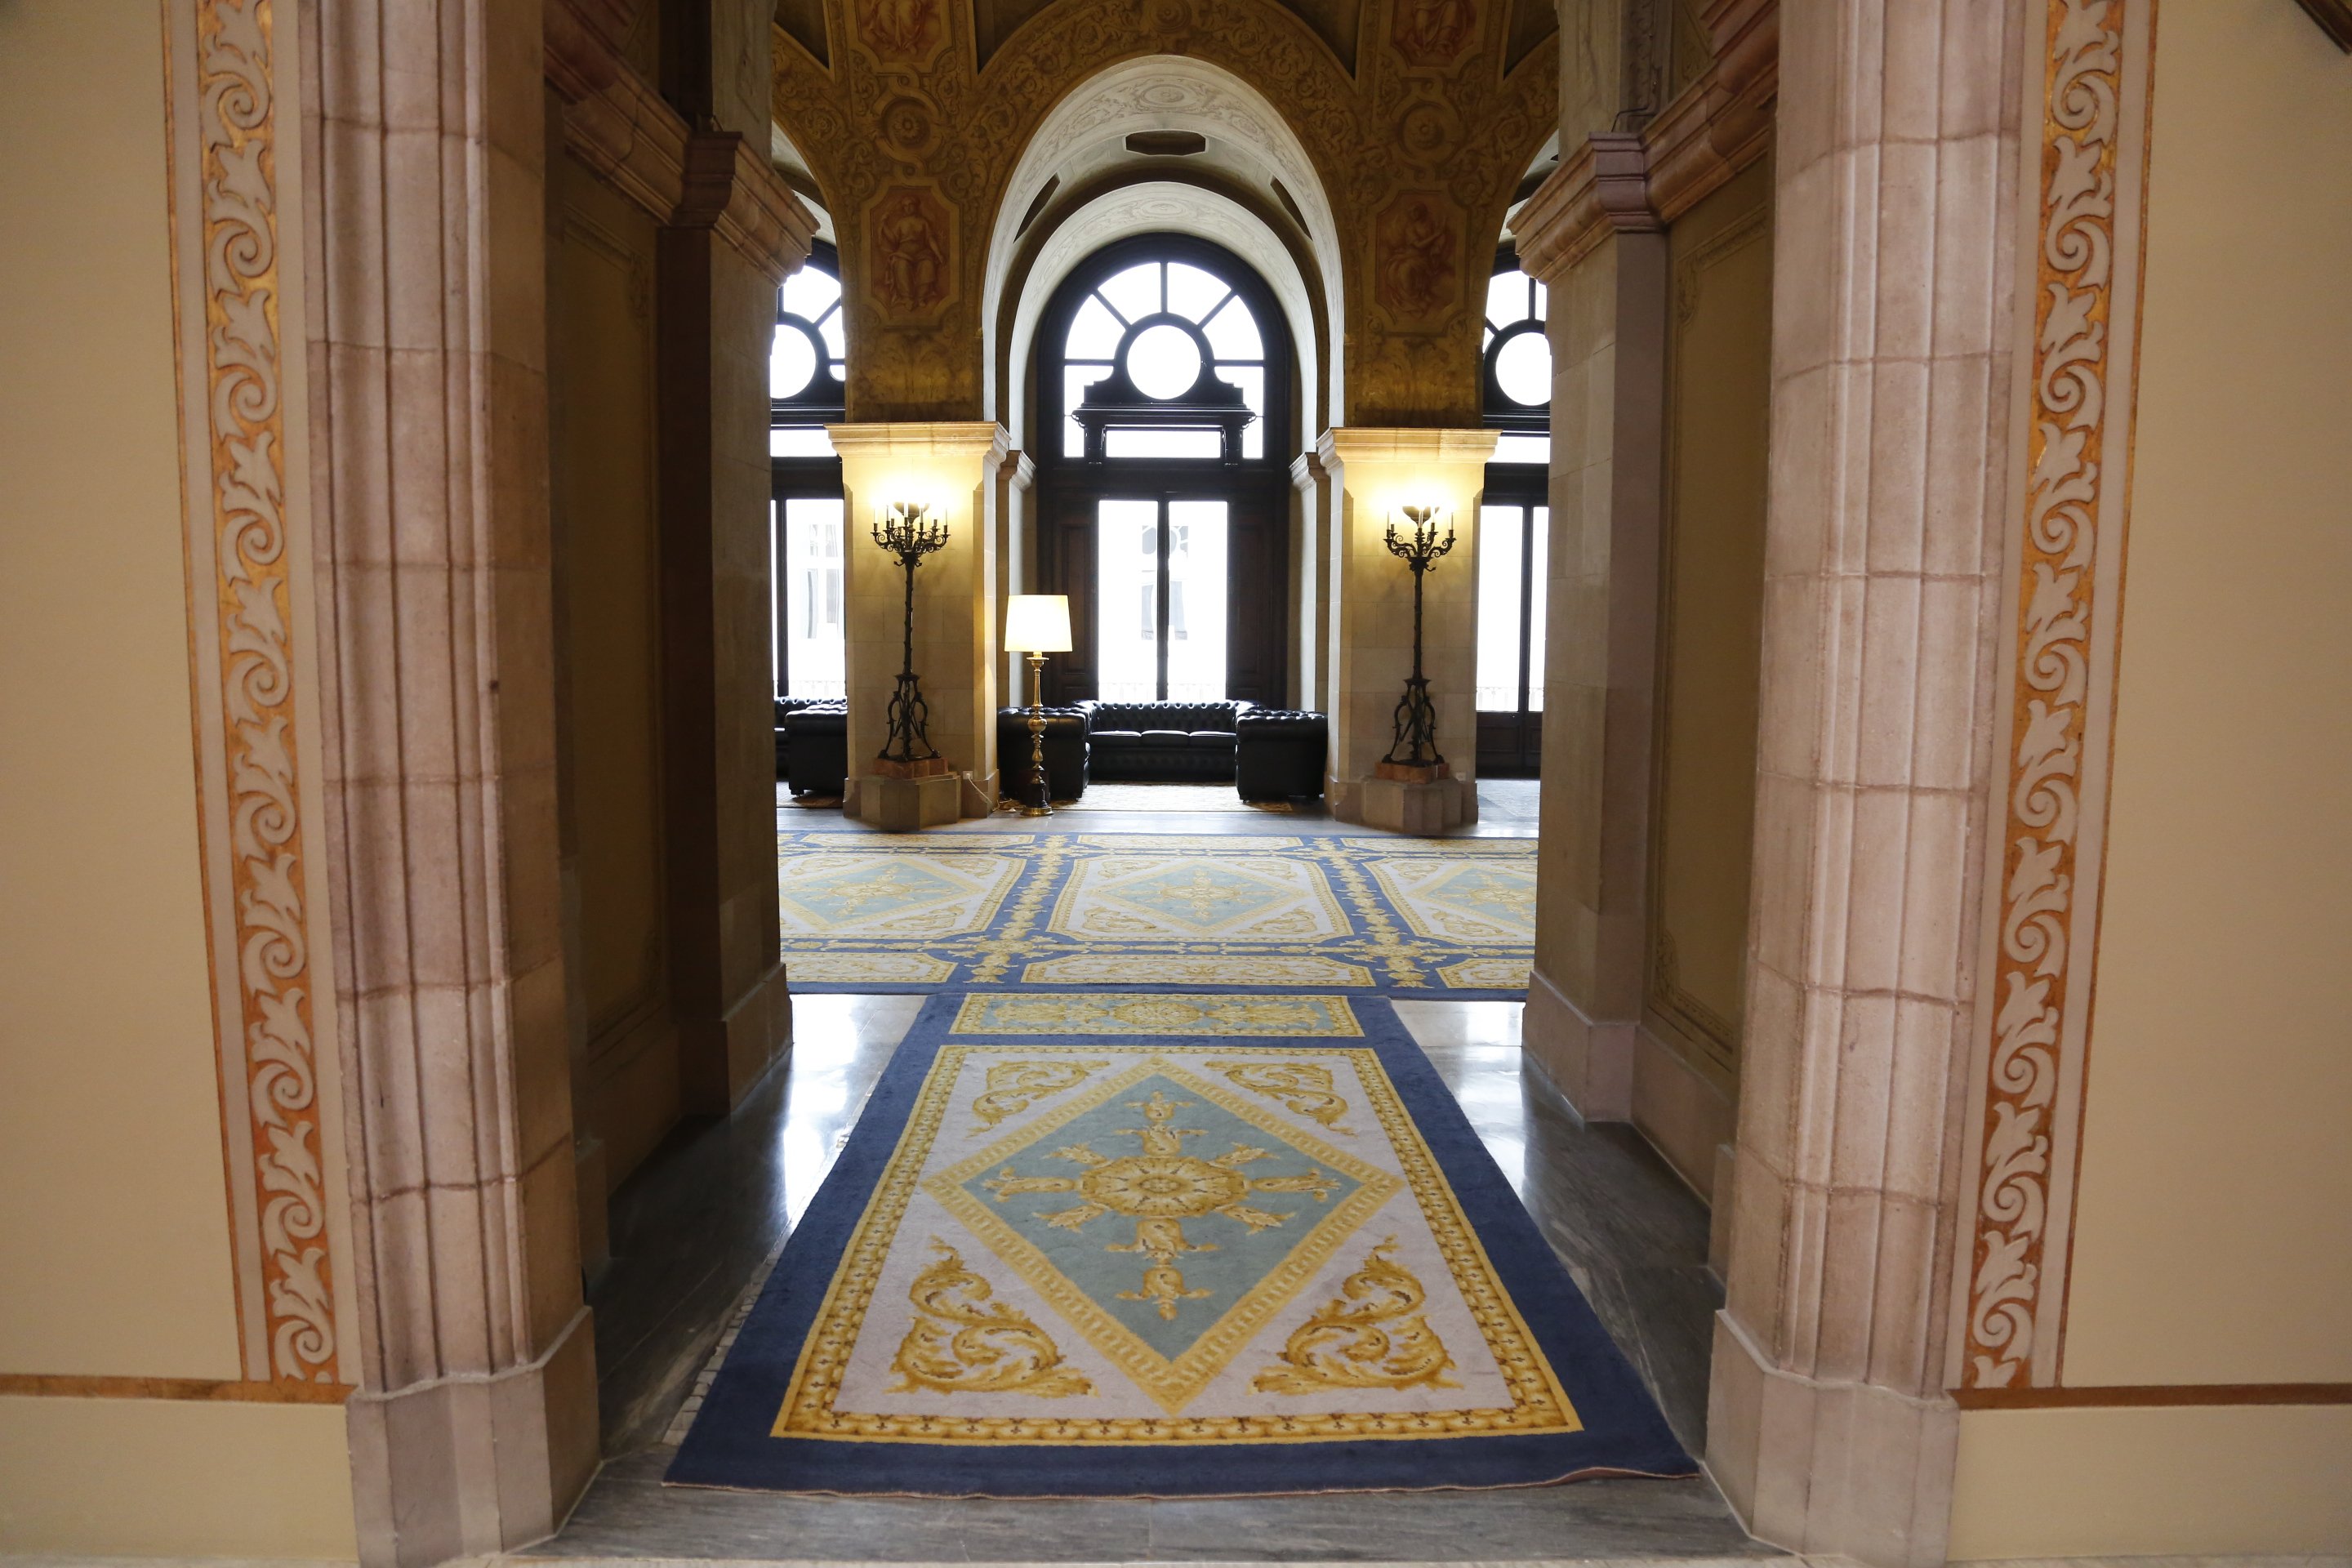
[[[1157,818],[1162,830],[1167,818]],[[1192,825],[1190,818],[1185,827]],[[1491,1493],[985,1502],[661,1486],[666,1432],[847,1140],[920,997],[797,997],[793,1053],[680,1128],[614,1197],[595,1281],[607,1465],[539,1556],[833,1561],[1534,1561],[1776,1556],[1712,1483]],[[1705,1441],[1708,1215],[1630,1128],[1519,1070],[1519,1004],[1399,1001],[1585,1298],[1693,1450]]]

